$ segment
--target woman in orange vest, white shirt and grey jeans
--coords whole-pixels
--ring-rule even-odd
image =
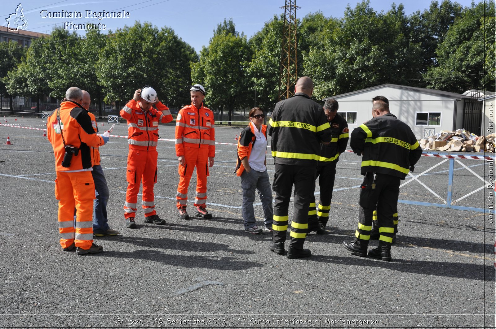
[[[243,219],[245,232],[259,234],[262,229],[256,225],[253,202],[255,189],[258,190],[264,215],[263,228],[272,232],[272,189],[267,173],[267,126],[263,123],[263,112],[260,108],[249,111],[248,127],[243,129],[238,140],[238,161],[236,175],[241,176],[243,188]]]

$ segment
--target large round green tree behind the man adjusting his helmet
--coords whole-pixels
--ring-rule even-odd
[[[136,22],[109,36],[97,62],[108,103],[127,102],[145,85],[155,88],[169,107],[189,103],[189,63],[197,55],[174,30]]]

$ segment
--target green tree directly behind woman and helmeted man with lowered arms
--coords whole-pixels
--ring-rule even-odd
[[[193,80],[206,88],[209,104],[228,109],[229,124],[235,107],[247,105],[251,54],[246,36],[221,32],[210,40],[208,47],[203,46],[199,62],[191,63]]]

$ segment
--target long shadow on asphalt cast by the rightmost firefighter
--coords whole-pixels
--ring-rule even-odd
[[[343,252],[346,251],[343,249]],[[362,265],[406,273],[495,281],[495,270],[493,264],[484,266],[467,263],[413,261],[405,259],[395,259],[394,255],[391,262],[384,262],[370,257],[358,257],[351,254],[349,257],[312,255],[309,258],[309,261],[340,265]],[[486,273],[486,276],[484,276],[484,273]]]

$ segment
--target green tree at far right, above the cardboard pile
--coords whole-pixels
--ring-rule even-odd
[[[437,67],[428,69],[427,87],[455,93],[469,89],[495,88],[494,80],[485,79],[483,17],[495,16],[492,1],[472,4],[455,19],[443,42],[436,49]]]

